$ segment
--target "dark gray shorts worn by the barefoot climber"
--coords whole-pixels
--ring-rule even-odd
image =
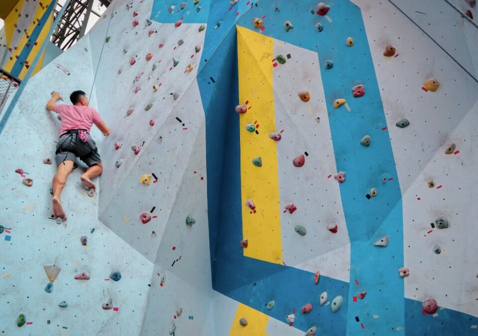
[[[67,148],[70,152],[60,152],[55,156],[56,166],[58,167],[64,161],[73,161],[73,169],[78,167],[78,164],[75,162],[76,159],[79,157],[83,157],[84,155],[88,155],[95,149],[96,142],[91,138],[88,137],[88,141],[84,143],[78,137],[78,134],[65,134],[58,139],[58,144],[56,145],[56,149],[59,148]],[[77,157],[78,155],[79,157]],[[88,167],[94,166],[95,164],[101,163],[100,154],[93,153],[88,158],[84,158],[82,160]]]

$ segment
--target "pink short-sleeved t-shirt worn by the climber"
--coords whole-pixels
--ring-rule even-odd
[[[68,130],[87,130],[90,132],[93,124],[103,121],[100,114],[89,106],[55,105],[53,109],[61,116],[60,135]]]

